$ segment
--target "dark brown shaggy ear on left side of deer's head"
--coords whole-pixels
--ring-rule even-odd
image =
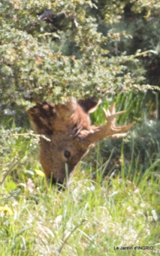
[[[55,104],[48,102],[40,104],[37,102],[36,106],[27,110],[26,113],[30,116],[34,129],[38,134],[41,134],[44,130],[47,133],[52,131],[50,118],[55,117]]]

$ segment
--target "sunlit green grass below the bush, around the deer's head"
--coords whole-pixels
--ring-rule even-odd
[[[118,123],[136,126],[123,140],[98,143],[65,191],[47,185],[38,138],[2,120],[2,256],[160,255],[160,126],[150,98],[118,95],[117,110],[127,109]],[[104,122],[101,106],[92,120]]]

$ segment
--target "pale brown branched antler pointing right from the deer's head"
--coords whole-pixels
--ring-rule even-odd
[[[94,127],[93,131],[90,132],[85,138],[87,144],[90,145],[91,143],[95,143],[98,140],[103,140],[103,138],[110,138],[110,137],[123,138],[123,137],[126,137],[126,135],[129,133],[126,131],[129,130],[132,126],[134,126],[135,122],[132,122],[127,126],[116,127],[115,126],[116,116],[126,111],[124,110],[116,113],[115,105],[116,103],[111,105],[109,110],[105,110],[105,108],[103,108],[103,112],[105,114],[105,118],[107,122],[105,126]],[[121,134],[121,132],[124,132],[124,133]]]

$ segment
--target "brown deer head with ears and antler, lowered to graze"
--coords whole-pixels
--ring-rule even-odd
[[[134,125],[116,127],[115,104],[109,110],[103,108],[106,124],[103,126],[90,125],[89,114],[96,110],[99,102],[94,98],[72,100],[66,105],[43,102],[27,111],[37,134],[43,134],[50,142],[40,138],[40,161],[46,178],[52,184],[66,180],[66,164],[68,175],[71,175],[87,153],[89,147],[103,138],[125,137]],[[124,133],[121,133],[124,132]]]

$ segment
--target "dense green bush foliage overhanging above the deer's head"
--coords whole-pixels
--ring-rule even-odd
[[[159,68],[158,0],[0,5],[1,113],[23,111],[37,99],[65,102],[158,84],[150,79]]]

